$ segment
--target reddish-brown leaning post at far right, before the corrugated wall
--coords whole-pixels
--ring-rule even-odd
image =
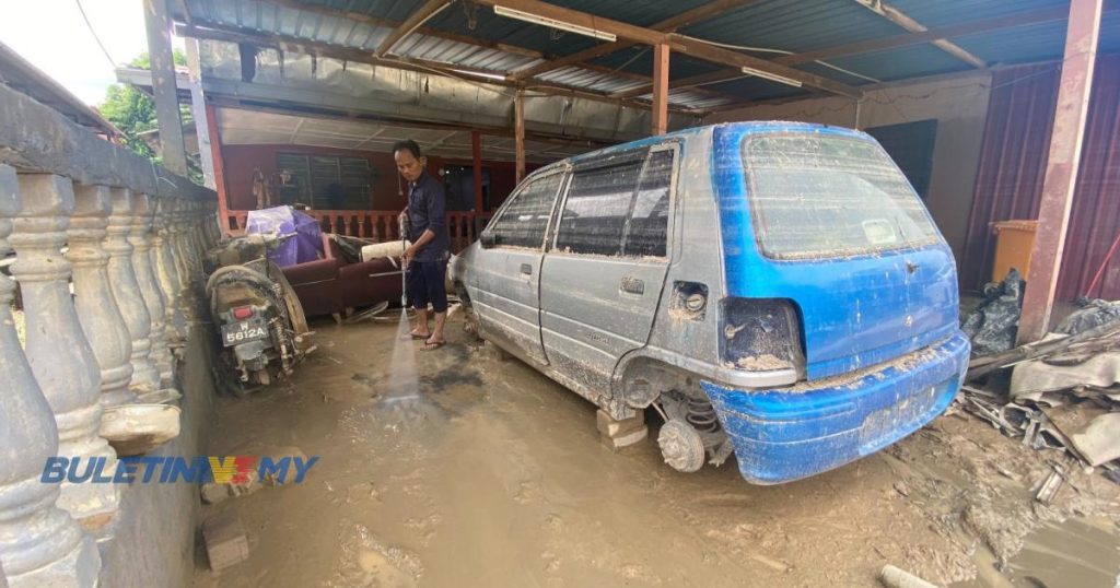
[[[1065,37],[1065,58],[1054,130],[1051,132],[1049,157],[1043,178],[1043,197],[1038,208],[1038,230],[1030,255],[1030,282],[1023,299],[1019,319],[1019,344],[1038,340],[1049,327],[1054,295],[1057,291],[1065,248],[1070,211],[1077,184],[1081,146],[1089,116],[1089,99],[1093,92],[1093,68],[1101,27],[1103,0],[1073,0]]]

